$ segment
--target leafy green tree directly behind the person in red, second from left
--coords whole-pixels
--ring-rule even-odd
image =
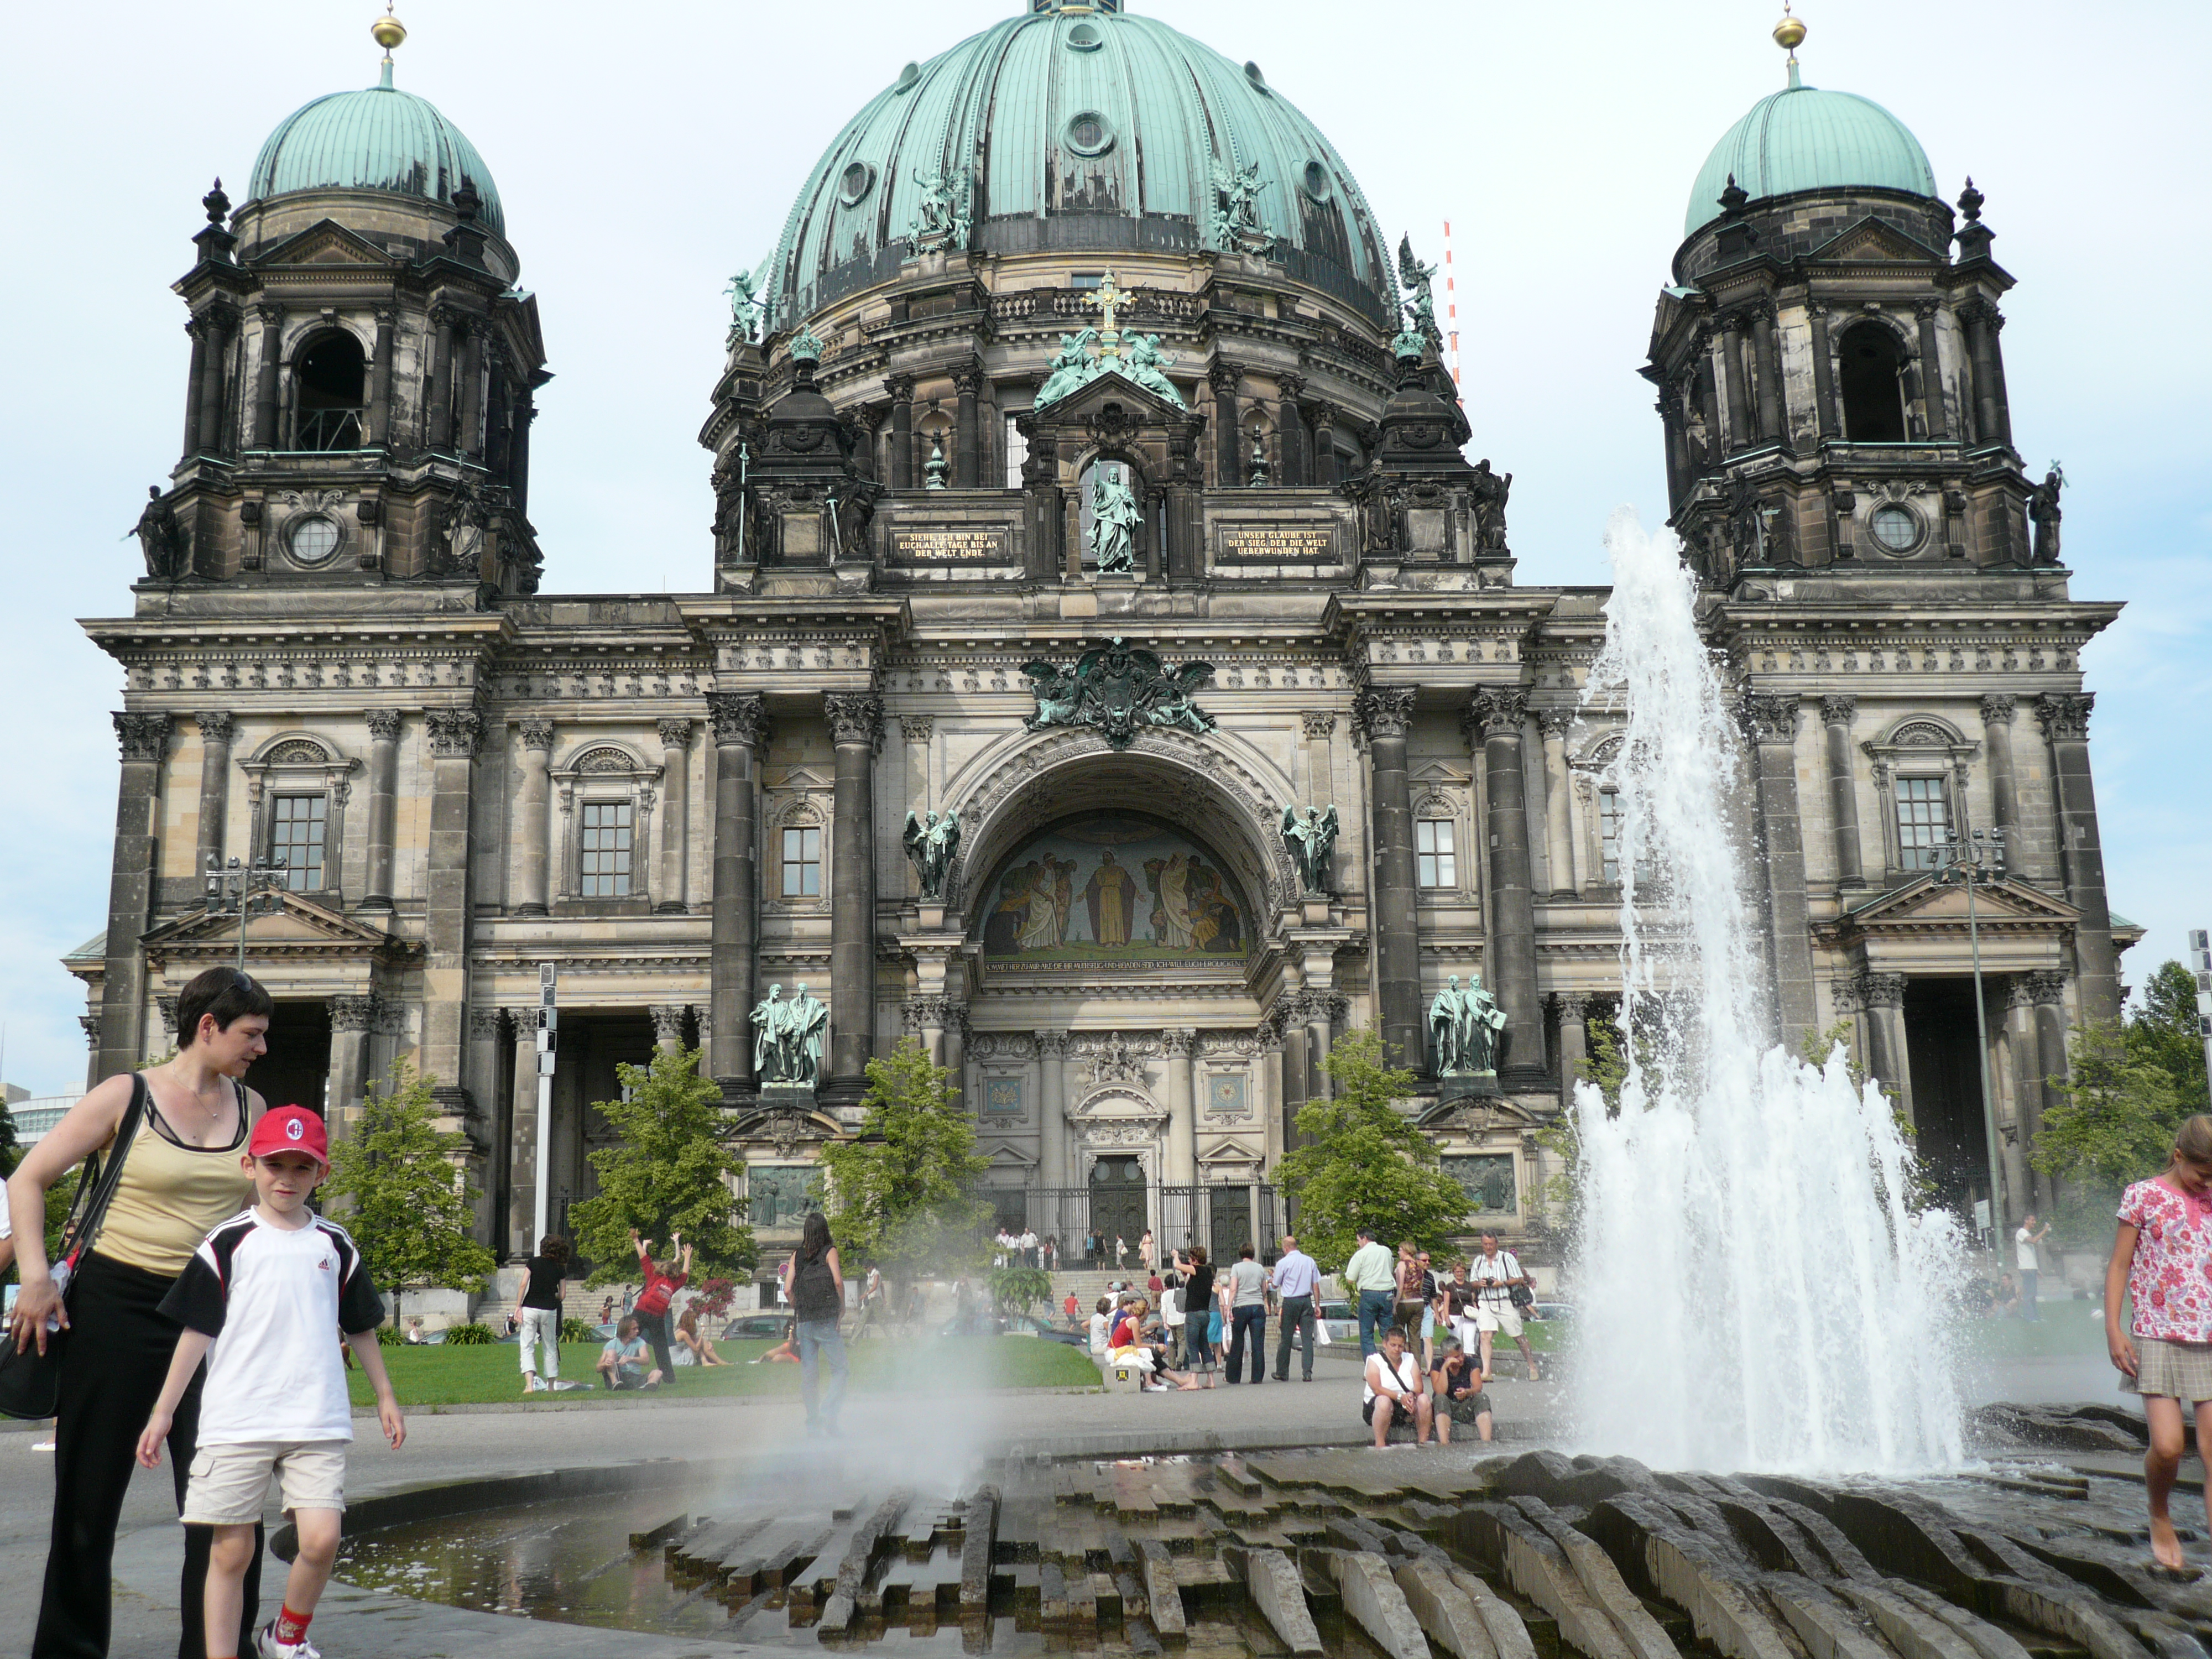
[[[741,1274],[761,1259],[743,1199],[730,1190],[745,1161],[730,1150],[721,1084],[699,1075],[697,1048],[659,1048],[650,1066],[615,1066],[628,1099],[595,1104],[615,1141],[591,1155],[599,1192],[568,1210],[588,1285],[637,1276],[635,1228],[655,1250],[677,1232],[692,1272]]]

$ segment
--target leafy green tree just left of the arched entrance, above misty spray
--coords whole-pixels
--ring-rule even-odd
[[[900,1292],[925,1270],[969,1267],[991,1206],[971,1197],[989,1159],[945,1066],[914,1037],[867,1062],[860,1137],[823,1148],[838,1263],[878,1267]]]

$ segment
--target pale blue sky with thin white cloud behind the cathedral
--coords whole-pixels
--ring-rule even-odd
[[[697,434],[732,270],[774,246],[849,115],[1024,0],[573,4],[405,0],[398,84],[484,155],[555,380],[531,518],[546,588],[699,591],[712,498]],[[1453,230],[1471,453],[1515,476],[1520,580],[1604,582],[1621,502],[1663,518],[1637,378],[1690,181],[1783,84],[1770,0],[1128,0],[1237,62],[1336,144],[1391,243]],[[199,197],[268,131],[376,80],[363,0],[24,7],[0,69],[18,252],[0,272],[0,1026],[7,1079],[84,1079],[60,956],[104,925],[126,540],[184,420]],[[2084,655],[2112,907],[2141,982],[2212,927],[2212,268],[2203,64],[2212,7],[1805,0],[1809,84],[1920,137],[1947,197],[1989,197],[2013,431],[2066,465],[2073,593],[2124,599]],[[2033,728],[2031,728],[2033,734]]]

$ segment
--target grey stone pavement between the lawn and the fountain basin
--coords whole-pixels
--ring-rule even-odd
[[[1270,1356],[1272,1358],[1272,1356]],[[1029,1389],[971,1396],[856,1394],[845,1409],[847,1440],[878,1447],[887,1462],[929,1447],[936,1455],[1046,1455],[1212,1451],[1221,1447],[1352,1444],[1365,1438],[1358,1411],[1356,1349],[1316,1367],[1314,1383],[1265,1383],[1199,1394],[1093,1394]],[[1292,1363],[1296,1367],[1296,1360]],[[1292,1369],[1296,1376],[1296,1369]],[[1502,1429],[1515,1447],[1544,1433],[1551,1385],[1493,1385]],[[471,1478],[524,1475],[644,1460],[723,1460],[790,1449],[801,1422],[792,1400],[597,1402],[568,1407],[551,1396],[513,1407],[418,1411],[407,1447],[392,1451],[374,1418],[356,1416],[347,1493],[354,1500]],[[18,1617],[13,1652],[29,1648],[46,1559],[53,1460],[31,1451],[42,1431],[0,1429],[0,1606]],[[276,1517],[270,1517],[272,1528]],[[184,1535],[168,1469],[139,1471],[124,1504],[115,1546],[113,1659],[168,1659],[177,1648],[177,1573]],[[274,1608],[285,1564],[263,1564],[263,1604]],[[332,1584],[316,1613],[314,1639],[332,1659],[597,1659],[604,1630],[507,1619],[440,1608],[405,1597]],[[730,1655],[732,1644],[622,1637],[626,1659]]]

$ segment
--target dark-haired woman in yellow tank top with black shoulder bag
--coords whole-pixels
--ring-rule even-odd
[[[268,1053],[272,1002],[237,969],[208,969],[177,993],[177,1057],[142,1073],[108,1077],[46,1130],[7,1183],[22,1292],[15,1343],[46,1345],[46,1314],[62,1314],[62,1407],[55,1420],[53,1537],[38,1608],[33,1659],[108,1650],[108,1566],[115,1522],[135,1467],[137,1433],[161,1394],[179,1327],[159,1312],[161,1296],[219,1223],[252,1201],[243,1152],[261,1095],[239,1077]],[[115,1146],[133,1093],[148,1093],[128,1146]],[[46,1188],[88,1155],[119,1155],[122,1179],[93,1248],[62,1310],[46,1263]],[[177,1407],[168,1438],[177,1509],[199,1442],[199,1378]],[[201,1652],[201,1590],[210,1528],[184,1528],[184,1652]],[[261,1533],[246,1579],[241,1646],[259,1613]]]

